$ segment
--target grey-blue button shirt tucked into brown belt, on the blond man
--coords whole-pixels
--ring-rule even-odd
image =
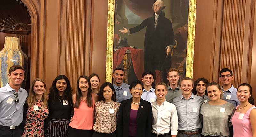
[[[192,93],[191,93],[192,94]],[[202,128],[200,122],[200,107],[204,103],[202,97],[192,94],[188,100],[183,95],[172,102],[177,109],[178,129],[181,131],[198,131]]]

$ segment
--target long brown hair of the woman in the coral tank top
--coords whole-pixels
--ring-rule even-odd
[[[90,82],[90,79],[87,77],[87,76],[80,76],[78,79],[77,79],[77,91],[76,91],[76,102],[74,104],[74,108],[79,108],[79,105],[80,105],[80,101],[81,101],[81,96],[82,96],[82,91],[81,89],[79,88],[79,80],[81,78],[84,78],[87,82],[88,82],[88,90],[87,90],[87,97],[86,97],[86,104],[88,107],[90,108],[93,108],[93,105],[92,105],[92,89],[91,89],[91,82]]]

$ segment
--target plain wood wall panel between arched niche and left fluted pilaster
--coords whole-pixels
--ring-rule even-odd
[[[60,0],[45,0],[44,80],[49,88],[58,75],[59,3]]]

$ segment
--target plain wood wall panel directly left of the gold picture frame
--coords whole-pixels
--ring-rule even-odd
[[[92,0],[92,70],[100,77],[100,85],[106,78],[106,43],[107,43],[107,0]]]

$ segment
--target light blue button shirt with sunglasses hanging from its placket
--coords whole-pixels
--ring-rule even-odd
[[[0,125],[19,126],[23,119],[23,105],[28,93],[25,89],[18,90],[19,103],[14,102],[16,91],[7,83],[0,88]]]

